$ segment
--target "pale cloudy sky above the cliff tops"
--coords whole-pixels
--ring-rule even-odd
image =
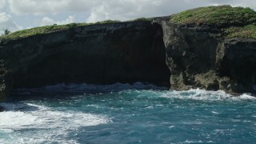
[[[200,6],[243,6],[256,0],[0,0],[0,34],[35,26],[167,16]]]

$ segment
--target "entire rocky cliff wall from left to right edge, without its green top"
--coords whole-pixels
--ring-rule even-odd
[[[238,22],[178,23],[174,16],[0,38],[0,101],[12,89],[62,82],[255,92],[256,39],[226,32]]]

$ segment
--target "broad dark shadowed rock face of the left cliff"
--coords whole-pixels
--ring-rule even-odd
[[[3,40],[0,46],[0,59],[12,70],[14,89],[60,82],[169,85],[162,28],[151,22],[78,26]]]

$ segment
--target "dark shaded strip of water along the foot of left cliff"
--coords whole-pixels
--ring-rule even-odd
[[[9,102],[72,100],[74,97],[97,97],[98,95],[118,93],[125,90],[169,90],[169,87],[142,82],[135,82],[134,84],[115,83],[113,85],[62,83],[40,88],[13,90]]]

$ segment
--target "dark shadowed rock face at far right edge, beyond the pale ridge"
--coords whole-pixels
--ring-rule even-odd
[[[238,93],[255,92],[256,40],[225,39],[220,42],[217,54],[216,64],[219,75],[230,78],[228,90]]]

